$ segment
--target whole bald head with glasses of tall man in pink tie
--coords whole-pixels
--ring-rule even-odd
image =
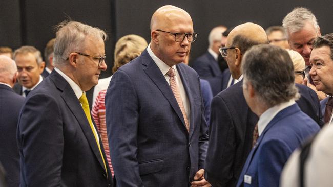
[[[166,65],[184,62],[195,37],[191,16],[183,9],[166,5],[153,14],[150,48]]]

